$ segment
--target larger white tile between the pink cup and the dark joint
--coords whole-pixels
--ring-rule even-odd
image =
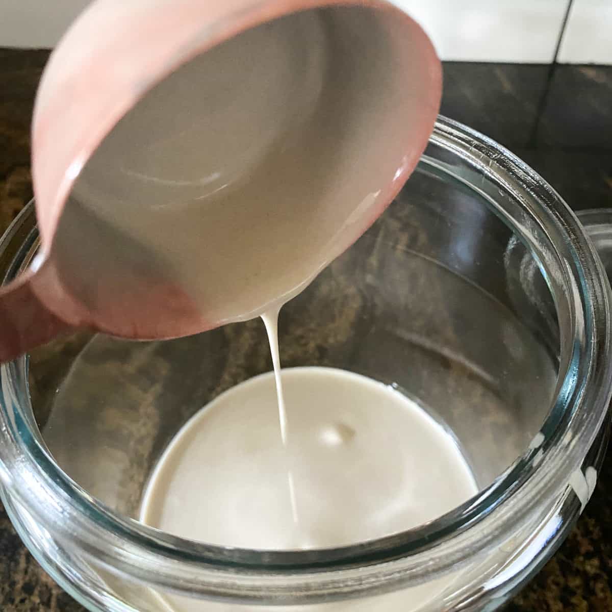
[[[481,62],[551,62],[567,9],[567,0],[394,3],[419,21],[442,59]]]

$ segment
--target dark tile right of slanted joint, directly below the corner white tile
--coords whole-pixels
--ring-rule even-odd
[[[612,66],[554,67],[537,144],[612,151]]]

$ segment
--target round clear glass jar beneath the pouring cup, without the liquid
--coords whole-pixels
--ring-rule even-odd
[[[0,244],[4,282],[37,245],[29,205]],[[417,401],[457,439],[476,496],[418,528],[324,550],[219,547],[136,520],[181,426],[270,369],[250,321],[151,343],[83,331],[2,365],[2,501],[90,610],[493,610],[556,550],[594,488],[609,293],[554,190],[440,118],[394,203],[286,305],[280,345],[285,367],[355,371]]]

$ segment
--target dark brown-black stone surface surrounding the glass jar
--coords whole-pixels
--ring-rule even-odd
[[[29,124],[48,51],[0,49],[0,233],[32,196]],[[442,113],[498,140],[575,209],[612,207],[612,67],[444,65]],[[83,612],[0,506],[0,610]],[[612,460],[569,538],[508,612],[612,610]]]

